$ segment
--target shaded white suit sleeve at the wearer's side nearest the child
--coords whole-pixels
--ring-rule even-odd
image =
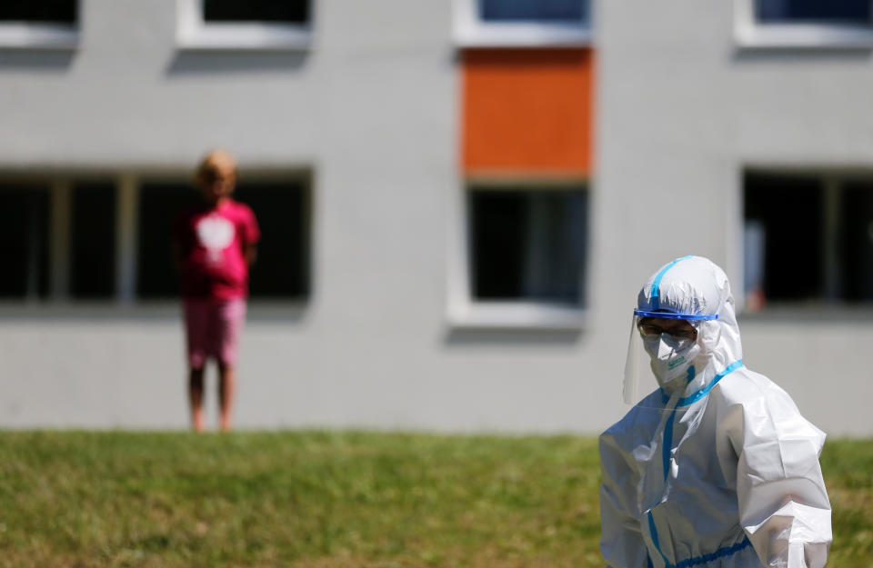
[[[636,509],[636,476],[609,433],[600,436],[600,552],[608,568],[642,568],[648,553]]]

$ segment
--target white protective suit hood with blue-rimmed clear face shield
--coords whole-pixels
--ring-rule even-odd
[[[637,327],[646,317],[686,320],[697,330],[697,338],[688,345],[666,334],[660,336],[660,341],[657,336],[647,336],[644,345]],[[625,365],[624,400],[638,404],[657,386],[662,396],[648,396],[645,400],[651,405],[663,404],[664,396],[693,395],[742,357],[727,274],[707,258],[683,256],[652,274],[637,295]]]

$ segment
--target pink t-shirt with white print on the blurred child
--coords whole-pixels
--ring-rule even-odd
[[[200,205],[176,220],[174,238],[182,259],[182,296],[232,300],[248,295],[246,246],[261,238],[246,204],[225,199]]]

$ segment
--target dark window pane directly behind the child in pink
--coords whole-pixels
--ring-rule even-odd
[[[196,190],[182,182],[140,185],[137,223],[137,295],[146,299],[177,297],[179,275],[173,265],[172,231],[176,217],[200,203]],[[304,299],[309,293],[309,193],[302,175],[246,180],[234,198],[248,204],[261,229],[252,267],[252,298]]]

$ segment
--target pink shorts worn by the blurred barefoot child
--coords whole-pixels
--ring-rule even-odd
[[[186,298],[185,327],[188,364],[200,369],[208,357],[236,365],[236,344],[246,321],[246,300]]]

